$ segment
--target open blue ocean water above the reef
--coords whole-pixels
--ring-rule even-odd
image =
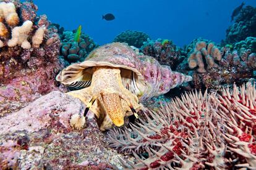
[[[49,20],[89,34],[98,44],[112,42],[125,30],[143,31],[152,39],[171,39],[177,46],[189,44],[202,37],[220,42],[231,25],[231,14],[242,2],[256,6],[255,0],[35,0],[38,14]],[[112,13],[116,19],[102,20],[102,15]]]

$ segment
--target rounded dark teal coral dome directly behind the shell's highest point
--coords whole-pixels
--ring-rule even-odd
[[[143,46],[143,42],[147,41],[147,39],[150,39],[150,37],[146,33],[126,30],[118,34],[113,42],[126,42],[129,46],[140,48]]]

